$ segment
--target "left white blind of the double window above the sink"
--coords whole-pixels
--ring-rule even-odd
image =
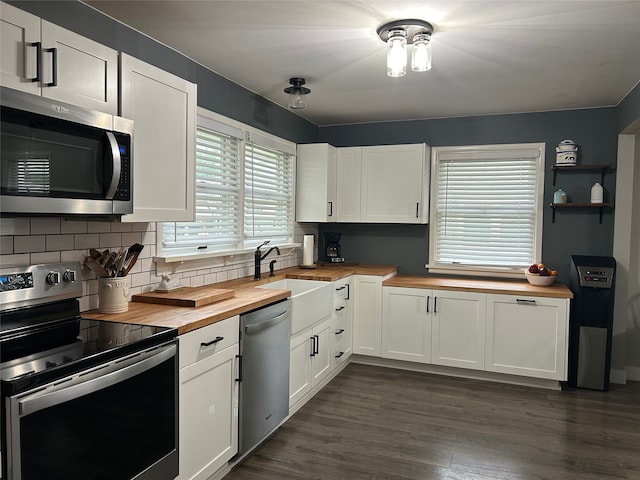
[[[237,136],[198,126],[196,220],[163,223],[163,249],[197,251],[207,247],[206,251],[238,246],[242,231],[240,152]]]

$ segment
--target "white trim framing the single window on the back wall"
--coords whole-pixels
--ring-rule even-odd
[[[486,277],[523,278],[524,271],[520,267],[495,267],[473,265],[451,265],[438,263],[435,259],[437,249],[437,232],[435,227],[438,193],[438,163],[441,159],[482,159],[495,158],[495,152],[504,158],[513,157],[518,151],[537,151],[536,168],[536,199],[535,199],[535,226],[534,226],[534,261],[542,258],[542,231],[544,226],[544,174],[545,174],[545,143],[514,143],[492,145],[464,145],[432,147],[431,150],[431,192],[430,214],[431,226],[429,228],[429,263],[425,268],[430,273],[457,274]]]

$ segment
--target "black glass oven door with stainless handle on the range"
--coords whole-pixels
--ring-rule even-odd
[[[9,399],[12,480],[178,476],[175,341]]]

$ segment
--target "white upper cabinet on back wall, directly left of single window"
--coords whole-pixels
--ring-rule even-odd
[[[338,221],[427,223],[428,147],[338,148]]]

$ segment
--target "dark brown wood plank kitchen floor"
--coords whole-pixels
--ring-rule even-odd
[[[351,364],[224,480],[640,479],[640,383],[563,392]]]

